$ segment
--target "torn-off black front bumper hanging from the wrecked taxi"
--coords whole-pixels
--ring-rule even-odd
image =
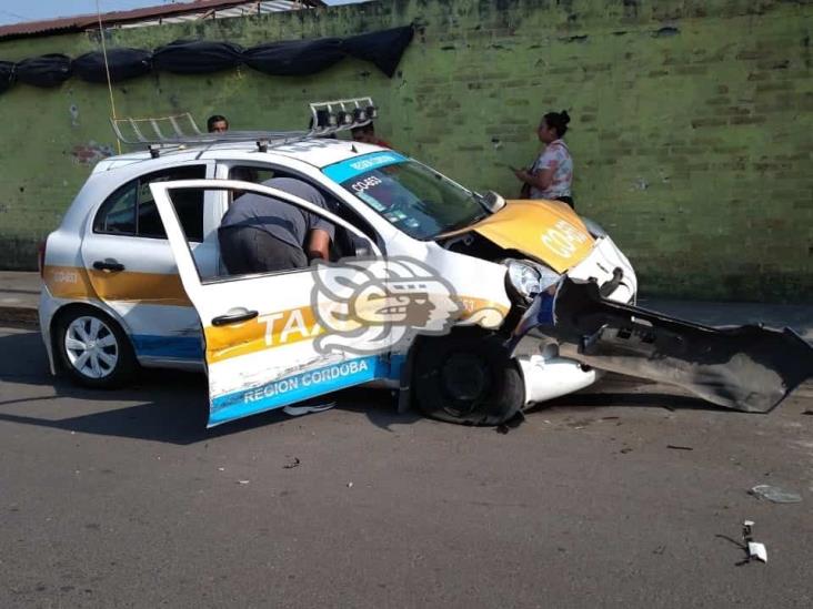
[[[792,329],[710,327],[604,298],[565,277],[514,331],[515,357],[555,353],[585,366],[680,386],[735,410],[766,413],[813,375],[813,347]]]

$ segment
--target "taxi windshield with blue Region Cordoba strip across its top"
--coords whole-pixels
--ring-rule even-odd
[[[479,195],[394,152],[357,156],[324,173],[414,238],[431,240],[486,215]]]

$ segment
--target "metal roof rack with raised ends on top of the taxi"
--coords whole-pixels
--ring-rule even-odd
[[[310,128],[307,131],[225,131],[205,133],[200,130],[190,112],[160,118],[110,119],[116,136],[122,144],[145,145],[155,158],[163,146],[180,148],[190,144],[208,145],[223,142],[253,141],[260,152],[309,138],[325,138],[378,118],[372,98],[352,98],[309,104]]]

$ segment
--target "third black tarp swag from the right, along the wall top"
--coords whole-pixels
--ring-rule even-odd
[[[175,74],[208,74],[235,68],[242,53],[242,48],[231,42],[175,40],[155,49],[152,65]]]

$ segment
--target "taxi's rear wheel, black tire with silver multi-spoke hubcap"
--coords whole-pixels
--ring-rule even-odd
[[[54,348],[62,369],[79,385],[114,388],[124,385],[138,365],[121,326],[91,306],[73,307],[54,324]]]

